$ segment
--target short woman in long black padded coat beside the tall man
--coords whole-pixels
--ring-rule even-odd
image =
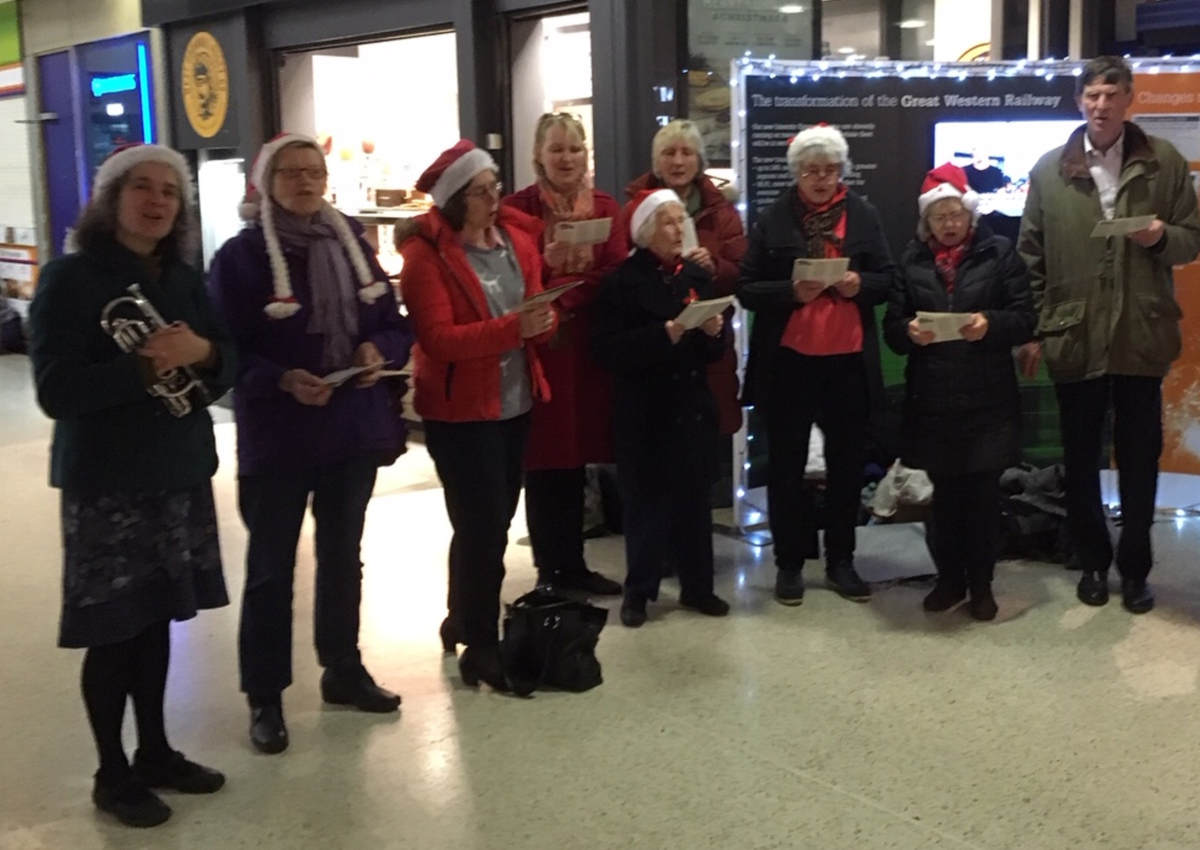
[[[901,460],[934,483],[937,585],[924,605],[946,611],[970,592],[971,616],[992,619],[1000,473],[1020,451],[1012,349],[1030,340],[1037,319],[1028,270],[1012,243],[978,223],[976,194],[958,166],[930,172],[918,205],[918,238],[900,261],[883,335],[908,355]],[[960,340],[935,343],[918,311],[970,318]]]

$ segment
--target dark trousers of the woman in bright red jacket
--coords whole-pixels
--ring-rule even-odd
[[[425,444],[454,527],[446,609],[467,646],[499,642],[504,550],[521,497],[528,436],[529,414],[475,423],[425,420]]]

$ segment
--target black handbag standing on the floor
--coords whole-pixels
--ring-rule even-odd
[[[512,692],[582,692],[600,684],[596,641],[608,610],[536,587],[505,605],[500,660]]]

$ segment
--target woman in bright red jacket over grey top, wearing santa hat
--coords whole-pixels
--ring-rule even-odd
[[[450,540],[449,616],[442,623],[462,680],[506,689],[498,651],[500,583],[509,523],[521,495],[529,411],[550,385],[529,342],[558,324],[548,305],[526,309],[541,292],[540,223],[500,208],[498,168],[463,139],[416,181],[434,209],[396,241],[400,283],[416,345],[414,400],[425,443],[445,491]]]

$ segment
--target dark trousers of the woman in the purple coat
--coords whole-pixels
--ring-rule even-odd
[[[241,689],[251,701],[292,684],[292,586],[300,526],[312,495],[317,587],[313,633],[322,666],[360,663],[360,544],[378,459],[238,479],[238,505],[250,532],[238,652]]]

